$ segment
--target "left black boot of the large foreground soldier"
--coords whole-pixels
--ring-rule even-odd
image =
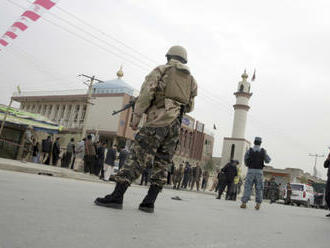
[[[95,204],[98,206],[107,207],[107,208],[122,209],[124,194],[125,194],[128,186],[129,186],[128,182],[117,183],[115,190],[112,192],[111,195],[106,195],[103,198],[101,198],[101,197],[96,198]]]

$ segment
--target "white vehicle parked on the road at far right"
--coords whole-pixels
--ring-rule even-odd
[[[314,205],[314,189],[312,186],[303,183],[291,183],[291,202],[297,206],[304,205],[307,208]],[[284,195],[286,198],[286,192]]]

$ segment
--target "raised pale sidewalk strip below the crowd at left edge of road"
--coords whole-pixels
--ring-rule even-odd
[[[0,170],[17,171],[30,174],[49,173],[55,177],[71,178],[83,181],[102,182],[94,175],[76,172],[71,169],[51,165],[36,164],[19,160],[0,158]]]

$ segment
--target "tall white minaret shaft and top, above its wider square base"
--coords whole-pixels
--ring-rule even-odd
[[[247,81],[248,75],[246,71],[242,74],[242,81],[238,83],[236,96],[236,104],[234,105],[235,115],[233,123],[233,132],[231,137],[237,139],[245,139],[245,127],[247,120],[247,112],[249,111],[250,83]]]

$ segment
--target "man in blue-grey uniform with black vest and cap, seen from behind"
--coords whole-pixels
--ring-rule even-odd
[[[271,159],[268,156],[266,150],[261,148],[262,139],[256,137],[254,139],[254,147],[250,148],[244,156],[245,165],[248,167],[246,175],[244,194],[242,197],[241,208],[246,208],[246,203],[249,201],[252,187],[256,188],[256,206],[255,209],[259,210],[262,202],[263,194],[263,168],[265,163],[268,164]]]

